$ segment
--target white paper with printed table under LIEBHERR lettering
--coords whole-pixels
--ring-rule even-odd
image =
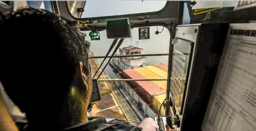
[[[256,24],[230,24],[203,131],[256,131]]]

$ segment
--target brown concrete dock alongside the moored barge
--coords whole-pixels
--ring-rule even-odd
[[[94,56],[91,51],[89,51],[89,56]],[[100,63],[97,59],[89,59],[91,66],[92,75],[97,71]],[[96,78],[102,71],[102,67],[96,74]],[[99,79],[110,79],[105,71]],[[111,88],[117,88],[113,82],[98,82],[99,90],[105,91]],[[133,110],[130,108],[129,104],[126,102],[124,97],[120,94],[119,90],[112,90],[110,92],[101,95],[101,101],[96,102],[98,106],[93,105],[92,116],[103,116],[106,118],[117,118],[128,121],[132,125],[138,125],[140,120],[135,115]],[[101,111],[102,110],[102,111]],[[95,113],[94,113],[95,112]]]

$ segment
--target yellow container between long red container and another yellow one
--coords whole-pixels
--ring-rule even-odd
[[[143,75],[148,79],[163,79],[161,76],[153,73],[152,71],[144,67],[135,68],[134,70],[136,70],[137,72],[139,72],[141,75]],[[167,88],[167,81],[152,81],[152,82],[154,82],[156,85],[160,86],[164,90],[166,90]]]

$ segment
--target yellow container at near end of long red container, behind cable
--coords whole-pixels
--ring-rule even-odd
[[[166,98],[166,93],[154,96],[154,98],[153,98],[153,110],[157,114],[159,113],[160,106],[161,106],[161,104],[162,104],[162,102],[164,101],[165,98]],[[165,109],[166,109],[166,107],[165,107]],[[165,116],[165,109],[162,105],[161,111],[160,111],[160,116]]]

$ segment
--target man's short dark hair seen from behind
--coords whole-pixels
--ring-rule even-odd
[[[0,81],[7,94],[26,114],[60,111],[79,61],[89,74],[90,43],[77,23],[36,9],[0,20]]]

